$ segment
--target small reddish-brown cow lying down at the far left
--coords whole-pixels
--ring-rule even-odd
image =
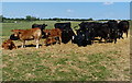
[[[11,39],[4,40],[4,42],[2,43],[2,48],[4,48],[4,49],[10,49],[10,50],[16,49],[14,43],[13,43]]]

